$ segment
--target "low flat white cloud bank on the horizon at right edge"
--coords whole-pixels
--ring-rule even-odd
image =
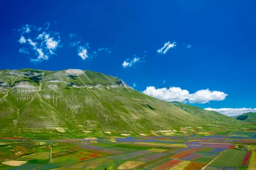
[[[220,108],[220,109],[205,108],[205,110],[216,111],[227,116],[238,116],[243,113],[256,112],[256,108],[254,109],[253,108]]]

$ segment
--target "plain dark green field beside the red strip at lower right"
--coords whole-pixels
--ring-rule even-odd
[[[245,150],[229,149],[222,153],[221,156],[215,159],[215,161],[213,161],[210,165],[222,167],[239,167],[239,164],[245,153]]]

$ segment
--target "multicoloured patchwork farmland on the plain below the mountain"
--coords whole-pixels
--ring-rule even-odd
[[[252,137],[252,136],[249,136]],[[228,136],[98,136],[0,139],[2,170],[254,170],[254,145]],[[241,143],[239,143],[241,144]],[[248,149],[250,148],[250,149]]]

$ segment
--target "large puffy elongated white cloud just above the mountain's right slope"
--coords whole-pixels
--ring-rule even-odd
[[[189,103],[207,103],[212,100],[221,101],[227,96],[227,94],[221,91],[210,91],[209,89],[199,90],[190,94],[188,90],[183,90],[180,87],[155,88],[154,86],[147,87],[143,93],[167,102]]]

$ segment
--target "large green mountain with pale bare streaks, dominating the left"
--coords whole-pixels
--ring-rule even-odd
[[[209,114],[204,119],[210,118],[210,113],[212,118],[222,119],[220,113],[205,113]],[[204,115],[198,114],[187,113],[132,89],[122,79],[98,72],[0,70],[0,136],[179,130],[204,126]]]

